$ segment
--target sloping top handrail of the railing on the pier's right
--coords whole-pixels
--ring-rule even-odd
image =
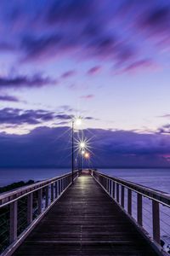
[[[152,200],[160,202],[162,205],[165,205],[166,207],[170,207],[170,194],[168,194],[166,192],[161,192],[156,189],[151,189],[151,188],[145,187],[143,185],[139,185],[138,183],[129,182],[122,178],[111,177],[102,172],[98,172],[98,171],[94,171],[94,170],[92,172],[99,174],[101,177],[107,177],[107,178],[115,181],[116,183],[120,183],[123,186],[125,186],[129,189],[132,189],[134,192],[137,192],[141,195],[144,195],[145,197],[148,197]]]

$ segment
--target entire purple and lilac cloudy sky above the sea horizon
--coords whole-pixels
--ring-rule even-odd
[[[170,166],[169,0],[2,0],[0,34],[0,166],[70,166],[74,115],[94,166]]]

